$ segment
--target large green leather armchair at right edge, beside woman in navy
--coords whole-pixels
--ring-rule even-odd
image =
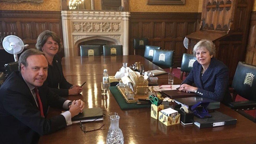
[[[245,113],[243,110],[256,109],[256,66],[247,63],[238,62],[236,73],[232,82],[232,93],[234,101],[237,94],[248,99],[247,101],[231,102],[229,106],[249,120],[256,122],[253,116]]]

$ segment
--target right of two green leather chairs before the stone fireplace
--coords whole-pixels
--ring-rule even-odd
[[[123,55],[122,45],[103,45],[103,55]]]

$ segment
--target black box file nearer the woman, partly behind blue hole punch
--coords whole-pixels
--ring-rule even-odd
[[[194,104],[198,102],[207,101],[210,102],[210,104],[207,106],[207,109],[219,109],[220,108],[220,102],[216,100],[212,100],[206,97],[187,97],[187,98],[174,98],[175,102],[178,104],[181,104],[182,106],[186,106],[188,109],[191,108]]]

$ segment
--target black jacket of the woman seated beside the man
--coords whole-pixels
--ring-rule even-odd
[[[60,58],[58,58],[58,56],[55,55],[52,61],[52,67],[56,67],[56,71],[53,71],[50,68],[50,65],[48,66],[48,76],[45,81],[45,84],[50,88],[51,91],[55,92],[57,95],[61,97],[68,96],[68,89],[72,86],[72,84],[67,82],[63,75]],[[59,74],[60,79],[56,77],[55,73]],[[60,89],[58,89],[58,84],[60,85]]]

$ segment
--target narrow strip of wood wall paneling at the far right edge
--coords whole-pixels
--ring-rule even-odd
[[[250,32],[245,62],[251,65],[256,65],[256,11],[252,12],[250,20]]]

